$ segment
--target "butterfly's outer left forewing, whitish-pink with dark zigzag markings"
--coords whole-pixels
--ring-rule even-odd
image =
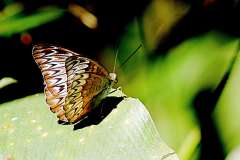
[[[65,61],[68,57],[79,56],[79,54],[61,47],[44,44],[35,45],[32,54],[42,72],[46,101],[51,111],[57,113],[60,120],[67,121],[63,110],[67,95]]]

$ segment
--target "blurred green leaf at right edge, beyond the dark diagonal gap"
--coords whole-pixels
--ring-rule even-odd
[[[240,51],[237,49],[236,61],[213,114],[226,152],[240,144]]]

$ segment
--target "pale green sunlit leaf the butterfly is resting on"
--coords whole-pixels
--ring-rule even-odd
[[[123,96],[120,91],[116,96]],[[111,95],[113,96],[113,95]],[[106,106],[108,107],[108,106]],[[57,124],[42,94],[0,106],[0,157],[13,159],[178,159],[137,99],[125,98],[101,123]]]

